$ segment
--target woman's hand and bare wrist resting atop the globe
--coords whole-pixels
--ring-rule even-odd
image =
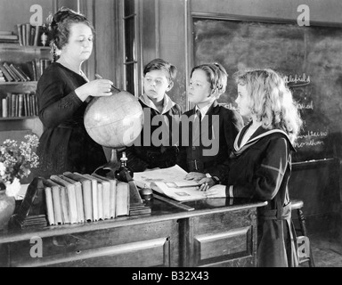
[[[113,83],[108,79],[96,79],[79,86],[75,90],[75,93],[84,102],[88,96],[110,96],[112,94],[111,85]]]

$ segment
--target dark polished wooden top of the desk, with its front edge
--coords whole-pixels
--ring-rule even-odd
[[[45,227],[32,227],[27,229],[9,229],[0,231],[0,243],[29,240],[33,236],[40,238],[57,236],[76,232],[92,232],[97,230],[115,228],[134,224],[148,224],[171,219],[182,219],[191,216],[206,215],[208,213],[220,213],[237,211],[247,208],[258,208],[267,205],[266,201],[251,199],[213,198],[201,199],[183,203],[194,210],[186,211],[168,204],[159,199],[151,199],[147,205],[151,207],[151,214],[140,216],[118,216],[115,219],[108,219],[97,222],[87,222],[83,224],[61,224]]]

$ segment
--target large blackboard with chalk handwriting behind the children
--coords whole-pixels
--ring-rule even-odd
[[[305,122],[293,160],[342,157],[342,28],[196,16],[191,28],[193,64],[218,61],[230,75],[219,102],[236,107],[237,70],[275,69]]]

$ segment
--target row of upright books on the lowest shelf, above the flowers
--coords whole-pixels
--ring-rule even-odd
[[[7,93],[6,97],[1,99],[0,108],[2,118],[38,116],[37,96],[34,93]]]

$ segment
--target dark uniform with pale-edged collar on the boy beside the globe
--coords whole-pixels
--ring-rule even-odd
[[[173,132],[178,132],[182,108],[165,94],[164,106],[160,113],[146,94],[139,97],[142,105],[144,123],[141,134],[133,144],[127,147],[127,167],[134,172],[142,172],[147,168],[173,167],[178,155],[178,140]],[[153,122],[158,122],[154,124]],[[122,151],[118,152],[118,158]]]

